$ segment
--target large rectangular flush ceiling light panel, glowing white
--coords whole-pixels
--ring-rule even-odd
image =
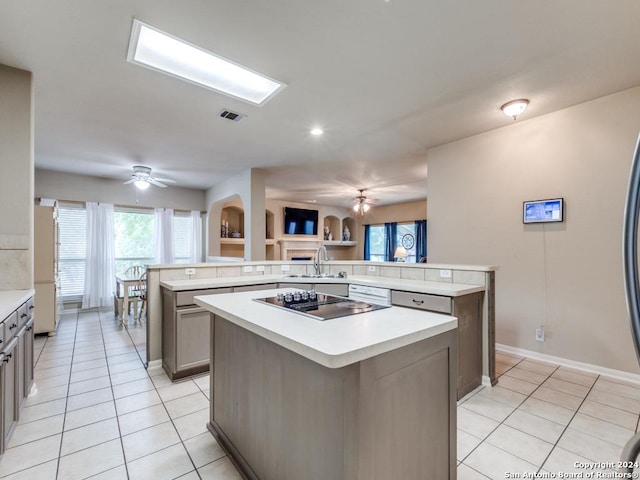
[[[127,61],[262,105],[285,85],[133,20]]]

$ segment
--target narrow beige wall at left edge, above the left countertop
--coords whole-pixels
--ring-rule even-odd
[[[33,287],[33,89],[0,65],[0,290]]]

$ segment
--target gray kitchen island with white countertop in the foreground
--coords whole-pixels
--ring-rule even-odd
[[[455,317],[402,307],[318,321],[206,295],[209,429],[246,478],[455,479]]]

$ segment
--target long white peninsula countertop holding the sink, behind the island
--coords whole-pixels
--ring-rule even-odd
[[[160,286],[172,291],[200,290],[205,288],[222,288],[241,285],[260,285],[265,283],[353,283],[356,285],[372,285],[393,290],[404,290],[414,293],[429,293],[445,297],[457,297],[470,293],[483,292],[482,285],[464,283],[431,282],[424,280],[407,280],[380,276],[351,275],[347,278],[312,278],[287,277],[282,275],[245,275],[240,277],[200,278],[192,280],[165,280]]]

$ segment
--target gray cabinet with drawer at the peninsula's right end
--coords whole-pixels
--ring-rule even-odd
[[[391,291],[391,304],[458,318],[458,399],[482,384],[482,302],[484,292],[445,297]]]

